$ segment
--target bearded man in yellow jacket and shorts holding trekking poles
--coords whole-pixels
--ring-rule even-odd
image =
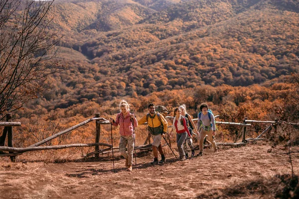
[[[167,121],[160,113],[155,111],[155,107],[153,103],[150,103],[149,113],[145,114],[139,121],[138,124],[144,124],[148,122],[148,130],[151,134],[151,138],[153,140],[151,147],[154,159],[150,163],[152,165],[163,164],[165,162],[165,155],[161,145],[161,139],[167,132]],[[158,151],[161,155],[161,160],[158,161]]]

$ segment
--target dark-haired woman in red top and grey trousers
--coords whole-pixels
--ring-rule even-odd
[[[181,110],[179,107],[174,109],[174,118],[172,121],[172,129],[176,131],[176,144],[179,152],[179,160],[185,160],[185,153],[183,149],[183,142],[186,140],[187,136],[192,137],[187,127],[186,118],[181,115]]]

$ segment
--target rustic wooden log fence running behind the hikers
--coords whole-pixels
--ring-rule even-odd
[[[218,117],[219,115],[215,116]],[[167,119],[172,119],[173,117],[170,116],[166,116]],[[90,144],[67,144],[67,145],[56,145],[56,146],[40,146],[58,136],[61,136],[63,134],[69,133],[72,130],[79,128],[91,121],[96,121],[96,130],[95,130],[95,143],[90,143]],[[197,121],[197,119],[193,119],[193,121]],[[257,136],[256,138],[247,138],[246,139],[246,128],[251,126],[250,123],[270,123],[270,126],[268,126],[259,136]],[[95,147],[95,151],[86,154],[85,157],[89,157],[94,155],[95,157],[99,157],[100,153],[109,153],[112,150],[112,145],[111,144],[107,144],[107,143],[101,143],[100,142],[100,135],[101,135],[101,125],[111,125],[111,123],[109,122],[109,120],[100,117],[100,113],[96,113],[95,117],[92,117],[90,119],[87,119],[75,126],[72,126],[66,130],[63,130],[61,132],[58,132],[46,139],[43,139],[35,144],[32,144],[28,147],[25,148],[15,148],[13,147],[13,126],[20,126],[21,123],[20,122],[12,122],[11,121],[11,114],[6,114],[6,121],[5,122],[0,122],[0,126],[4,126],[3,129],[3,133],[0,137],[0,157],[3,156],[10,156],[10,160],[14,161],[15,160],[15,156],[20,155],[24,152],[27,151],[38,151],[38,150],[52,150],[52,149],[65,149],[65,148],[71,148],[71,147]],[[273,125],[277,125],[278,121],[256,121],[256,120],[248,120],[247,118],[244,119],[244,121],[242,123],[235,123],[235,122],[221,122],[221,121],[216,121],[216,124],[219,125],[233,125],[233,126],[240,126],[240,130],[239,133],[237,134],[234,143],[216,143],[218,146],[242,146],[242,145],[246,145],[247,142],[249,141],[257,141],[257,140],[263,140],[263,138],[261,138],[261,136],[267,132],[269,132],[272,129]],[[293,124],[293,125],[298,125],[295,123],[289,123],[289,124]],[[172,126],[168,126],[168,128],[171,128]],[[6,135],[7,135],[7,147],[4,146],[5,143],[5,139],[6,139]],[[242,142],[236,143],[236,141],[239,139],[239,137],[243,135],[242,138]],[[147,141],[150,142],[149,137],[147,137]],[[137,146],[136,149],[138,150],[149,150],[151,149],[151,144],[145,144],[144,145],[140,145]],[[105,149],[99,149],[99,146],[106,146],[108,148]],[[165,146],[165,145],[163,145]],[[113,149],[118,150],[119,147],[113,147]],[[8,153],[7,153],[8,152]]]

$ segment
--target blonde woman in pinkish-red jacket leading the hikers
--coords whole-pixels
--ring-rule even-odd
[[[117,114],[116,120],[110,118],[110,122],[114,126],[120,125],[120,153],[126,158],[126,167],[128,171],[132,171],[133,164],[133,149],[134,149],[134,133],[133,133],[133,123],[134,127],[138,126],[138,122],[133,113],[130,113],[129,104],[126,100],[121,100],[119,104],[121,112]],[[128,145],[128,153],[126,152],[126,147]]]

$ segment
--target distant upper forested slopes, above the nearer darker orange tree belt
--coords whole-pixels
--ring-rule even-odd
[[[165,8],[154,10],[159,3]],[[298,68],[295,0],[58,1],[54,11],[61,46],[73,49],[57,74],[64,90],[85,82],[98,97],[132,94],[125,84],[145,96],[260,84]],[[89,61],[70,61],[75,51]]]

